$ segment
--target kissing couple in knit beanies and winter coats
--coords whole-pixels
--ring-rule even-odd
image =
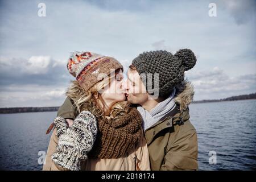
[[[195,64],[190,49],[144,52],[125,81],[113,57],[72,53],[76,81],[48,129],[55,126],[43,170],[196,170],[194,90],[184,80]]]

